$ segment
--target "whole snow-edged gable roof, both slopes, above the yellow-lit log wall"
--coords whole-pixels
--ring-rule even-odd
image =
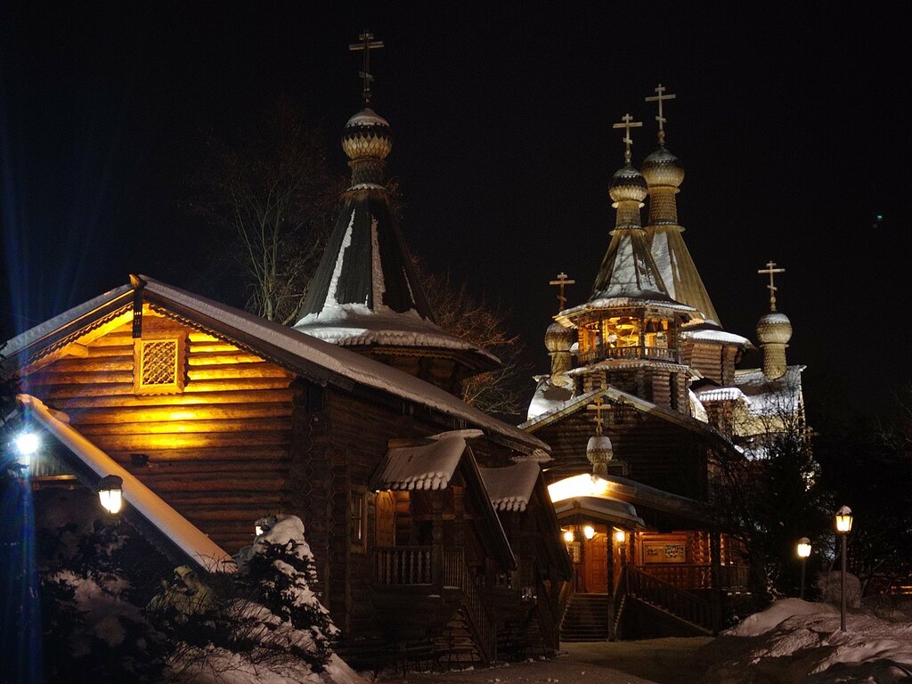
[[[465,420],[471,426],[484,430],[492,439],[504,441],[508,446],[524,453],[542,457],[551,451],[544,441],[527,435],[523,430],[502,420],[492,418],[444,389],[420,378],[345,348],[303,335],[290,327],[194,295],[179,287],[166,285],[148,276],[141,275],[139,279],[142,283],[143,299],[150,305],[160,306],[165,313],[170,312],[171,316],[191,321],[193,325],[200,326],[217,337],[228,338],[241,347],[251,349],[258,356],[290,368],[306,378],[343,389],[351,389],[355,385],[377,389]],[[105,297],[111,299],[106,301]],[[106,295],[91,300],[94,305],[90,309],[91,314],[85,312],[87,303],[67,312],[72,313],[73,318],[57,316],[60,323],[57,330],[66,332],[74,326],[88,326],[91,320],[94,320],[93,316],[101,316],[109,312],[113,306],[119,306],[119,313],[129,313],[132,297],[130,288],[111,290]],[[32,331],[28,331],[15,338],[26,340],[26,344],[16,347],[17,358],[8,358],[4,362],[5,373],[13,372],[47,352],[47,346],[55,338],[45,324],[38,327],[42,328],[40,335],[33,335]]]

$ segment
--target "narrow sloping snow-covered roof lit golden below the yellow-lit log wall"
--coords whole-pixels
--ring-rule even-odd
[[[184,554],[202,568],[214,572],[233,572],[234,562],[230,554],[202,533],[189,520],[161,500],[155,492],[140,482],[132,473],[120,466],[107,453],[98,449],[78,430],[67,425],[51,414],[47,406],[28,394],[20,394],[18,401],[29,409],[32,419],[41,423],[57,440],[98,475],[117,475],[123,480],[123,499],[136,509],[143,518],[171,540]]]

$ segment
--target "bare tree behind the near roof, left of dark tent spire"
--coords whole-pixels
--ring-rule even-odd
[[[248,310],[284,324],[301,306],[343,187],[302,111],[280,99],[239,140],[210,137],[209,161],[193,178],[193,206],[233,236]]]

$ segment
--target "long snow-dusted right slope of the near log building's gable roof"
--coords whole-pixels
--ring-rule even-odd
[[[233,306],[165,285],[146,275],[140,275],[140,278],[145,283],[144,294],[150,301],[158,302],[217,335],[230,337],[257,355],[270,357],[306,378],[343,389],[352,389],[355,384],[364,385],[466,420],[484,430],[492,440],[505,442],[523,453],[551,452],[544,441],[396,368]]]

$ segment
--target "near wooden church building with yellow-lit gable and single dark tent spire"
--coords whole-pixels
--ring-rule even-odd
[[[368,41],[369,42],[369,41]],[[176,563],[231,570],[254,523],[298,515],[353,664],[554,652],[573,568],[534,434],[458,399],[499,363],[434,323],[383,184],[389,124],[349,119],[352,169],[301,320],[130,276],[8,341],[34,488],[119,476]]]

